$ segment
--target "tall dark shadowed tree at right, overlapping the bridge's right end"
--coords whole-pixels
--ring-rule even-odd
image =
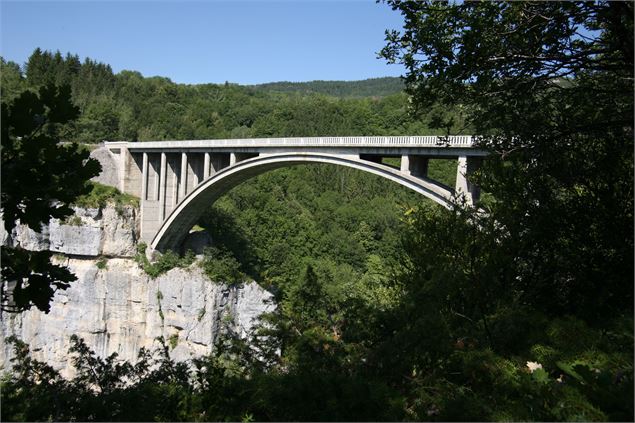
[[[461,105],[475,182],[532,304],[592,319],[633,300],[633,3],[388,1],[382,55],[413,104]]]

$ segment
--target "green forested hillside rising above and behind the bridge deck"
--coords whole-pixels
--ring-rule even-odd
[[[2,61],[3,101],[46,83],[71,86],[82,114],[69,128],[68,140],[82,143],[429,134],[425,122],[441,113],[409,118],[407,97],[397,89],[401,82],[396,78],[291,87],[184,85],[134,71],[113,74],[107,64],[40,49],[22,67]]]

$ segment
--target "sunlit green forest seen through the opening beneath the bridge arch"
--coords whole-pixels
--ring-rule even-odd
[[[430,168],[452,177],[441,161]],[[328,165],[278,169],[229,191],[199,225],[262,285],[285,290],[311,263],[345,285],[368,271],[370,256],[387,267],[397,255],[400,210],[420,199],[393,185]]]

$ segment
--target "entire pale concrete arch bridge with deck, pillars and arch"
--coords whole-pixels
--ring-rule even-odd
[[[348,166],[390,179],[448,206],[454,196],[478,201],[469,181],[486,152],[471,136],[255,138],[106,142],[119,168],[119,188],[141,199],[141,240],[178,248],[196,220],[225,192],[268,170],[305,163]],[[383,163],[399,158],[400,166]],[[428,177],[430,159],[457,160],[451,188]]]

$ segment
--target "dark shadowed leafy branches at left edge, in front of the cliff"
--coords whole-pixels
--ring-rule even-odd
[[[43,86],[38,94],[23,92],[2,104],[2,218],[7,233],[17,222],[36,232],[51,218],[73,213],[70,203],[90,191],[86,181],[101,166],[77,144],[60,142],[62,125],[79,109],[70,87]],[[48,251],[2,248],[2,309],[23,311],[36,306],[48,312],[56,289],[66,289],[75,276],[50,262]],[[12,294],[12,295],[11,295]]]

